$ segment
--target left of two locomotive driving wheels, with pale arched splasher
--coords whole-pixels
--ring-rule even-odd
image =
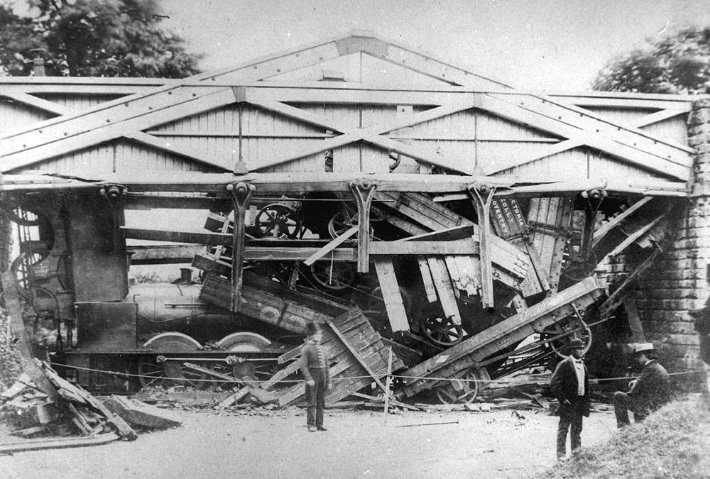
[[[144,348],[151,348],[154,353],[142,356],[138,361],[138,374],[141,387],[176,385],[200,387],[204,376],[185,368],[184,360],[170,360],[163,353],[189,353],[202,346],[195,339],[182,333],[163,333],[149,339]]]

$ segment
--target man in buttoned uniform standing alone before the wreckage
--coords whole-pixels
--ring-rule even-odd
[[[301,373],[306,380],[308,400],[307,424],[310,432],[326,431],[323,427],[325,392],[332,387],[328,370],[328,356],[320,341],[323,333],[317,323],[306,325],[308,337],[301,348]]]

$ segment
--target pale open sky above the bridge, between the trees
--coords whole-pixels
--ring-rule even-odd
[[[513,87],[589,89],[606,61],[666,28],[710,25],[709,0],[167,0],[204,70],[367,30]]]

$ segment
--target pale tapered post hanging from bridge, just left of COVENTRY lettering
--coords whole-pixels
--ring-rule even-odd
[[[479,219],[481,263],[481,306],[493,309],[493,263],[491,260],[491,203],[496,188],[484,183],[469,185],[469,192]]]

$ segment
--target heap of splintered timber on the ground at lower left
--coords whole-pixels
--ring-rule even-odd
[[[11,435],[36,437],[0,444],[0,454],[133,441],[138,438],[136,430],[180,426],[137,400],[121,396],[99,400],[36,359],[0,393],[0,404],[0,418],[15,428]]]

